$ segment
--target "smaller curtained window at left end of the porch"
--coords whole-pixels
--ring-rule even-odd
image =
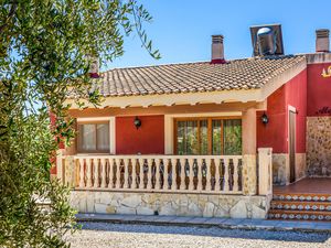
[[[78,152],[109,152],[109,123],[78,123]]]

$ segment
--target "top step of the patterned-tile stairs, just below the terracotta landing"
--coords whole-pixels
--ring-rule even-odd
[[[273,200],[279,201],[308,201],[308,202],[329,202],[331,203],[330,194],[277,194],[275,193]]]

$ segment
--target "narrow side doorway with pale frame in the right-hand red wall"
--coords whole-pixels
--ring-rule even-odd
[[[297,109],[293,106],[288,106],[288,158],[289,158],[289,183],[296,182],[296,153],[297,153],[297,118],[293,118],[293,165],[291,165],[291,148],[290,148],[290,112],[297,115]],[[295,116],[296,117],[296,116]],[[293,166],[293,168],[292,168]]]

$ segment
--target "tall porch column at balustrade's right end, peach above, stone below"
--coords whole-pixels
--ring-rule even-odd
[[[256,109],[243,111],[243,194],[257,194]]]

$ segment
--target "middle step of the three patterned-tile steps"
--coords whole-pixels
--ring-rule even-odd
[[[331,202],[271,201],[271,209],[327,211],[331,213]]]

